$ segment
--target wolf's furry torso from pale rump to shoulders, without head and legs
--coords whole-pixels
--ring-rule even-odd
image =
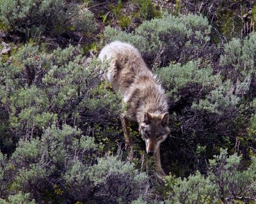
[[[102,49],[99,58],[109,59],[106,78],[129,104],[126,111],[129,120],[140,122],[145,112],[155,115],[168,112],[166,94],[136,48],[114,41]]]

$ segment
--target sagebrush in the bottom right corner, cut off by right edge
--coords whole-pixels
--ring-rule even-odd
[[[234,200],[255,200],[256,159],[252,157],[250,166],[241,170],[242,156],[228,156],[221,150],[220,156],[209,161],[209,178],[218,186],[219,198],[223,203]]]

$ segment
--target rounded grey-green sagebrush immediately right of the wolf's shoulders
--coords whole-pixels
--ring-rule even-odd
[[[209,68],[200,68],[199,62],[188,62],[181,66],[180,64],[170,64],[166,68],[159,68],[156,71],[159,79],[166,87],[167,95],[170,99],[179,103],[186,94],[195,94],[191,108],[220,113],[230,106],[236,106],[239,98],[232,93],[234,89],[230,81],[221,82],[220,75],[214,75],[213,70]],[[190,87],[198,86],[198,92],[192,92]],[[191,91],[191,93],[189,93]]]

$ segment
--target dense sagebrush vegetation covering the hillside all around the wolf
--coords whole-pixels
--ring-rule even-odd
[[[0,203],[256,203],[254,1],[0,0]],[[170,105],[169,175],[101,80],[137,47]]]

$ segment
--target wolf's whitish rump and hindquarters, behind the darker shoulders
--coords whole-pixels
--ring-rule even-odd
[[[99,59],[109,60],[106,78],[114,91],[121,91],[124,95],[136,77],[141,74],[152,76],[140,52],[128,43],[120,41],[109,43],[101,50]]]

